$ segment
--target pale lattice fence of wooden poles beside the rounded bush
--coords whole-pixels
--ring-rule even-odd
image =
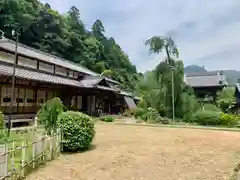
[[[60,155],[60,131],[52,136],[36,132],[35,129],[21,133],[20,139],[0,145],[0,180],[24,178],[33,169]]]

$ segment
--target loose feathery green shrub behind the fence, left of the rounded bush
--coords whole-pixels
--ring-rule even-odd
[[[42,105],[37,113],[38,123],[43,125],[47,134],[56,132],[58,128],[58,115],[64,111],[60,98],[53,98]]]

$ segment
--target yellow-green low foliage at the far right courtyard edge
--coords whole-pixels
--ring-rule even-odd
[[[221,113],[220,125],[235,127],[240,122],[240,117],[235,114]]]

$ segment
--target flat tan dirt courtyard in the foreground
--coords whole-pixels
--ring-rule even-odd
[[[27,180],[228,180],[240,133],[97,124],[95,149],[62,155]]]

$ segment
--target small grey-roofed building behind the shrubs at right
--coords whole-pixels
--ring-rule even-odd
[[[193,88],[197,98],[211,103],[215,102],[217,92],[228,85],[222,71],[187,74],[184,79]]]

